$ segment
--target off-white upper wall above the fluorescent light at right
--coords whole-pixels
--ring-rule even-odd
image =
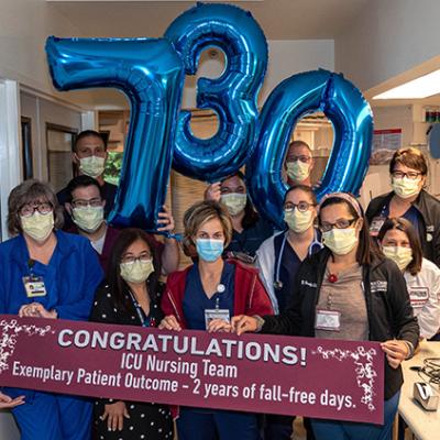
[[[438,0],[370,0],[336,38],[336,69],[367,90],[439,55]]]

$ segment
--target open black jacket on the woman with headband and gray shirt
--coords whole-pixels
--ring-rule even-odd
[[[264,317],[263,333],[315,337],[316,305],[329,256],[330,251],[324,248],[304,261],[289,307],[282,315]],[[419,326],[397,265],[391,260],[374,257],[372,265],[363,266],[363,287],[370,341],[403,339],[416,348]],[[400,366],[394,370],[385,359],[385,399],[393,397],[402,384]]]

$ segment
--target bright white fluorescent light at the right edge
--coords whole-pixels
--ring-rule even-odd
[[[440,69],[376,95],[373,99],[421,99],[437,94],[440,94]]]

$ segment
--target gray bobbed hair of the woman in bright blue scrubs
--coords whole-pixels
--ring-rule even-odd
[[[52,186],[44,182],[29,179],[13,188],[8,198],[8,231],[11,235],[23,232],[20,221],[20,209],[26,204],[36,201],[50,202],[54,209],[55,228],[63,228],[63,207],[58,204]]]

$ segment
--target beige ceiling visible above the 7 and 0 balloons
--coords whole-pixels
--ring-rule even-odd
[[[195,1],[46,0],[82,36],[162,36]],[[362,13],[369,0],[229,1],[252,12],[268,40],[333,40]],[[59,35],[73,36],[73,35]]]

